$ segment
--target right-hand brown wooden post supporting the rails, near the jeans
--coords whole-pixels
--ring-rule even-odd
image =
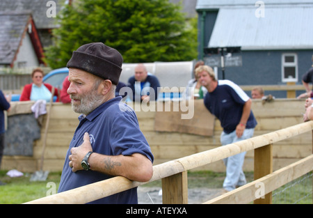
[[[273,144],[268,144],[255,149],[255,180],[263,176],[273,173]],[[265,187],[264,187],[265,189]],[[272,192],[269,192],[264,198],[257,198],[255,204],[270,204],[272,203]]]

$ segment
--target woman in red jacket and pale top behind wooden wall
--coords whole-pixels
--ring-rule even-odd
[[[45,100],[50,102],[52,86],[42,82],[44,72],[40,68],[35,68],[31,73],[31,79],[33,83],[26,84],[23,88],[22,94],[19,97],[20,101],[37,101]],[[54,88],[54,96],[58,97],[58,89]],[[58,101],[58,98],[57,100]]]

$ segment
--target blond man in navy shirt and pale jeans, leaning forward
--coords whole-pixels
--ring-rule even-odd
[[[208,90],[204,97],[204,105],[214,114],[223,132],[220,142],[223,146],[249,139],[253,136],[257,120],[251,111],[252,101],[246,93],[229,80],[216,80],[214,71],[207,65],[195,70],[202,86]],[[223,187],[232,191],[236,186],[246,184],[246,177],[242,166],[246,152],[224,159],[226,165],[226,178]]]

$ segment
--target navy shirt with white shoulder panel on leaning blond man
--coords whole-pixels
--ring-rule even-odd
[[[204,105],[220,120],[223,131],[229,134],[236,130],[242,116],[243,104],[248,100],[248,95],[239,86],[225,79],[218,80],[214,91],[205,95]],[[246,128],[254,128],[256,125],[257,120],[251,111]]]

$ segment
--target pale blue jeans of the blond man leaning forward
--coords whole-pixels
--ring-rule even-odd
[[[236,141],[250,139],[254,132],[254,128],[246,129],[240,138],[236,136],[236,130],[230,134],[222,132],[222,134],[220,134],[220,142],[222,143],[222,146],[225,146],[230,143],[235,143]],[[223,162],[226,166],[226,178],[223,182],[223,188],[225,190],[232,191],[233,189],[236,189],[236,186],[246,184],[246,176],[242,170],[245,155],[246,152],[243,152],[223,159]]]

